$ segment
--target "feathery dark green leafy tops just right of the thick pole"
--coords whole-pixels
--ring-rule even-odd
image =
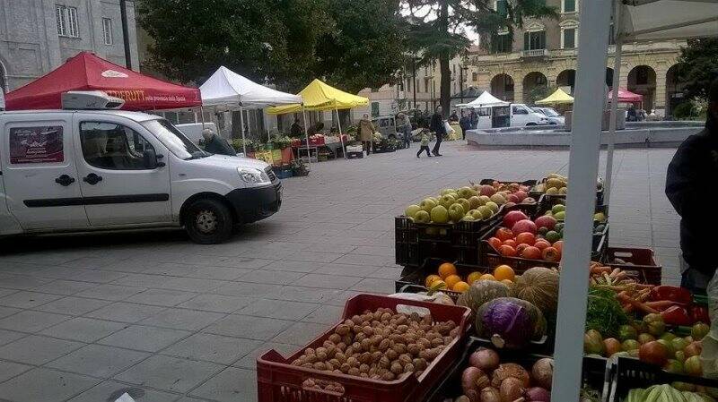
[[[603,338],[616,338],[621,325],[629,321],[626,312],[609,289],[591,287],[586,309],[586,329],[596,329]]]

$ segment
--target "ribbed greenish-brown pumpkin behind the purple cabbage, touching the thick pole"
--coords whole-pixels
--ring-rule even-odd
[[[553,316],[558,306],[558,273],[543,267],[528,269],[513,284],[513,295]]]

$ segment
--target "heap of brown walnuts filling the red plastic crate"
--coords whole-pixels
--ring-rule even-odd
[[[292,364],[380,381],[405,373],[419,377],[459,331],[456,322],[435,322],[431,314],[367,310],[338,325],[322,346],[305,349]]]

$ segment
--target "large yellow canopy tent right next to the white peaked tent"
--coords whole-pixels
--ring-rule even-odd
[[[337,112],[337,124],[339,124],[339,139],[342,141],[342,150],[344,158],[346,158],[346,150],[344,149],[344,137],[342,134],[342,126],[339,123],[339,109],[351,109],[352,107],[360,107],[369,105],[369,98],[352,95],[343,90],[337,90],[328,86],[326,83],[314,79],[306,88],[299,92],[302,96],[303,103],[294,103],[278,107],[268,107],[267,113],[270,115],[284,115],[285,113],[295,113],[305,110],[321,111],[335,110]],[[304,125],[306,126],[306,116],[304,117]],[[309,146],[309,144],[307,144]],[[308,156],[309,157],[309,156]]]

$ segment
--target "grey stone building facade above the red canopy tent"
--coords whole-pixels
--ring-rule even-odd
[[[125,64],[119,0],[0,0],[0,90],[49,73],[81,51]],[[138,70],[135,4],[127,1],[132,67]]]

